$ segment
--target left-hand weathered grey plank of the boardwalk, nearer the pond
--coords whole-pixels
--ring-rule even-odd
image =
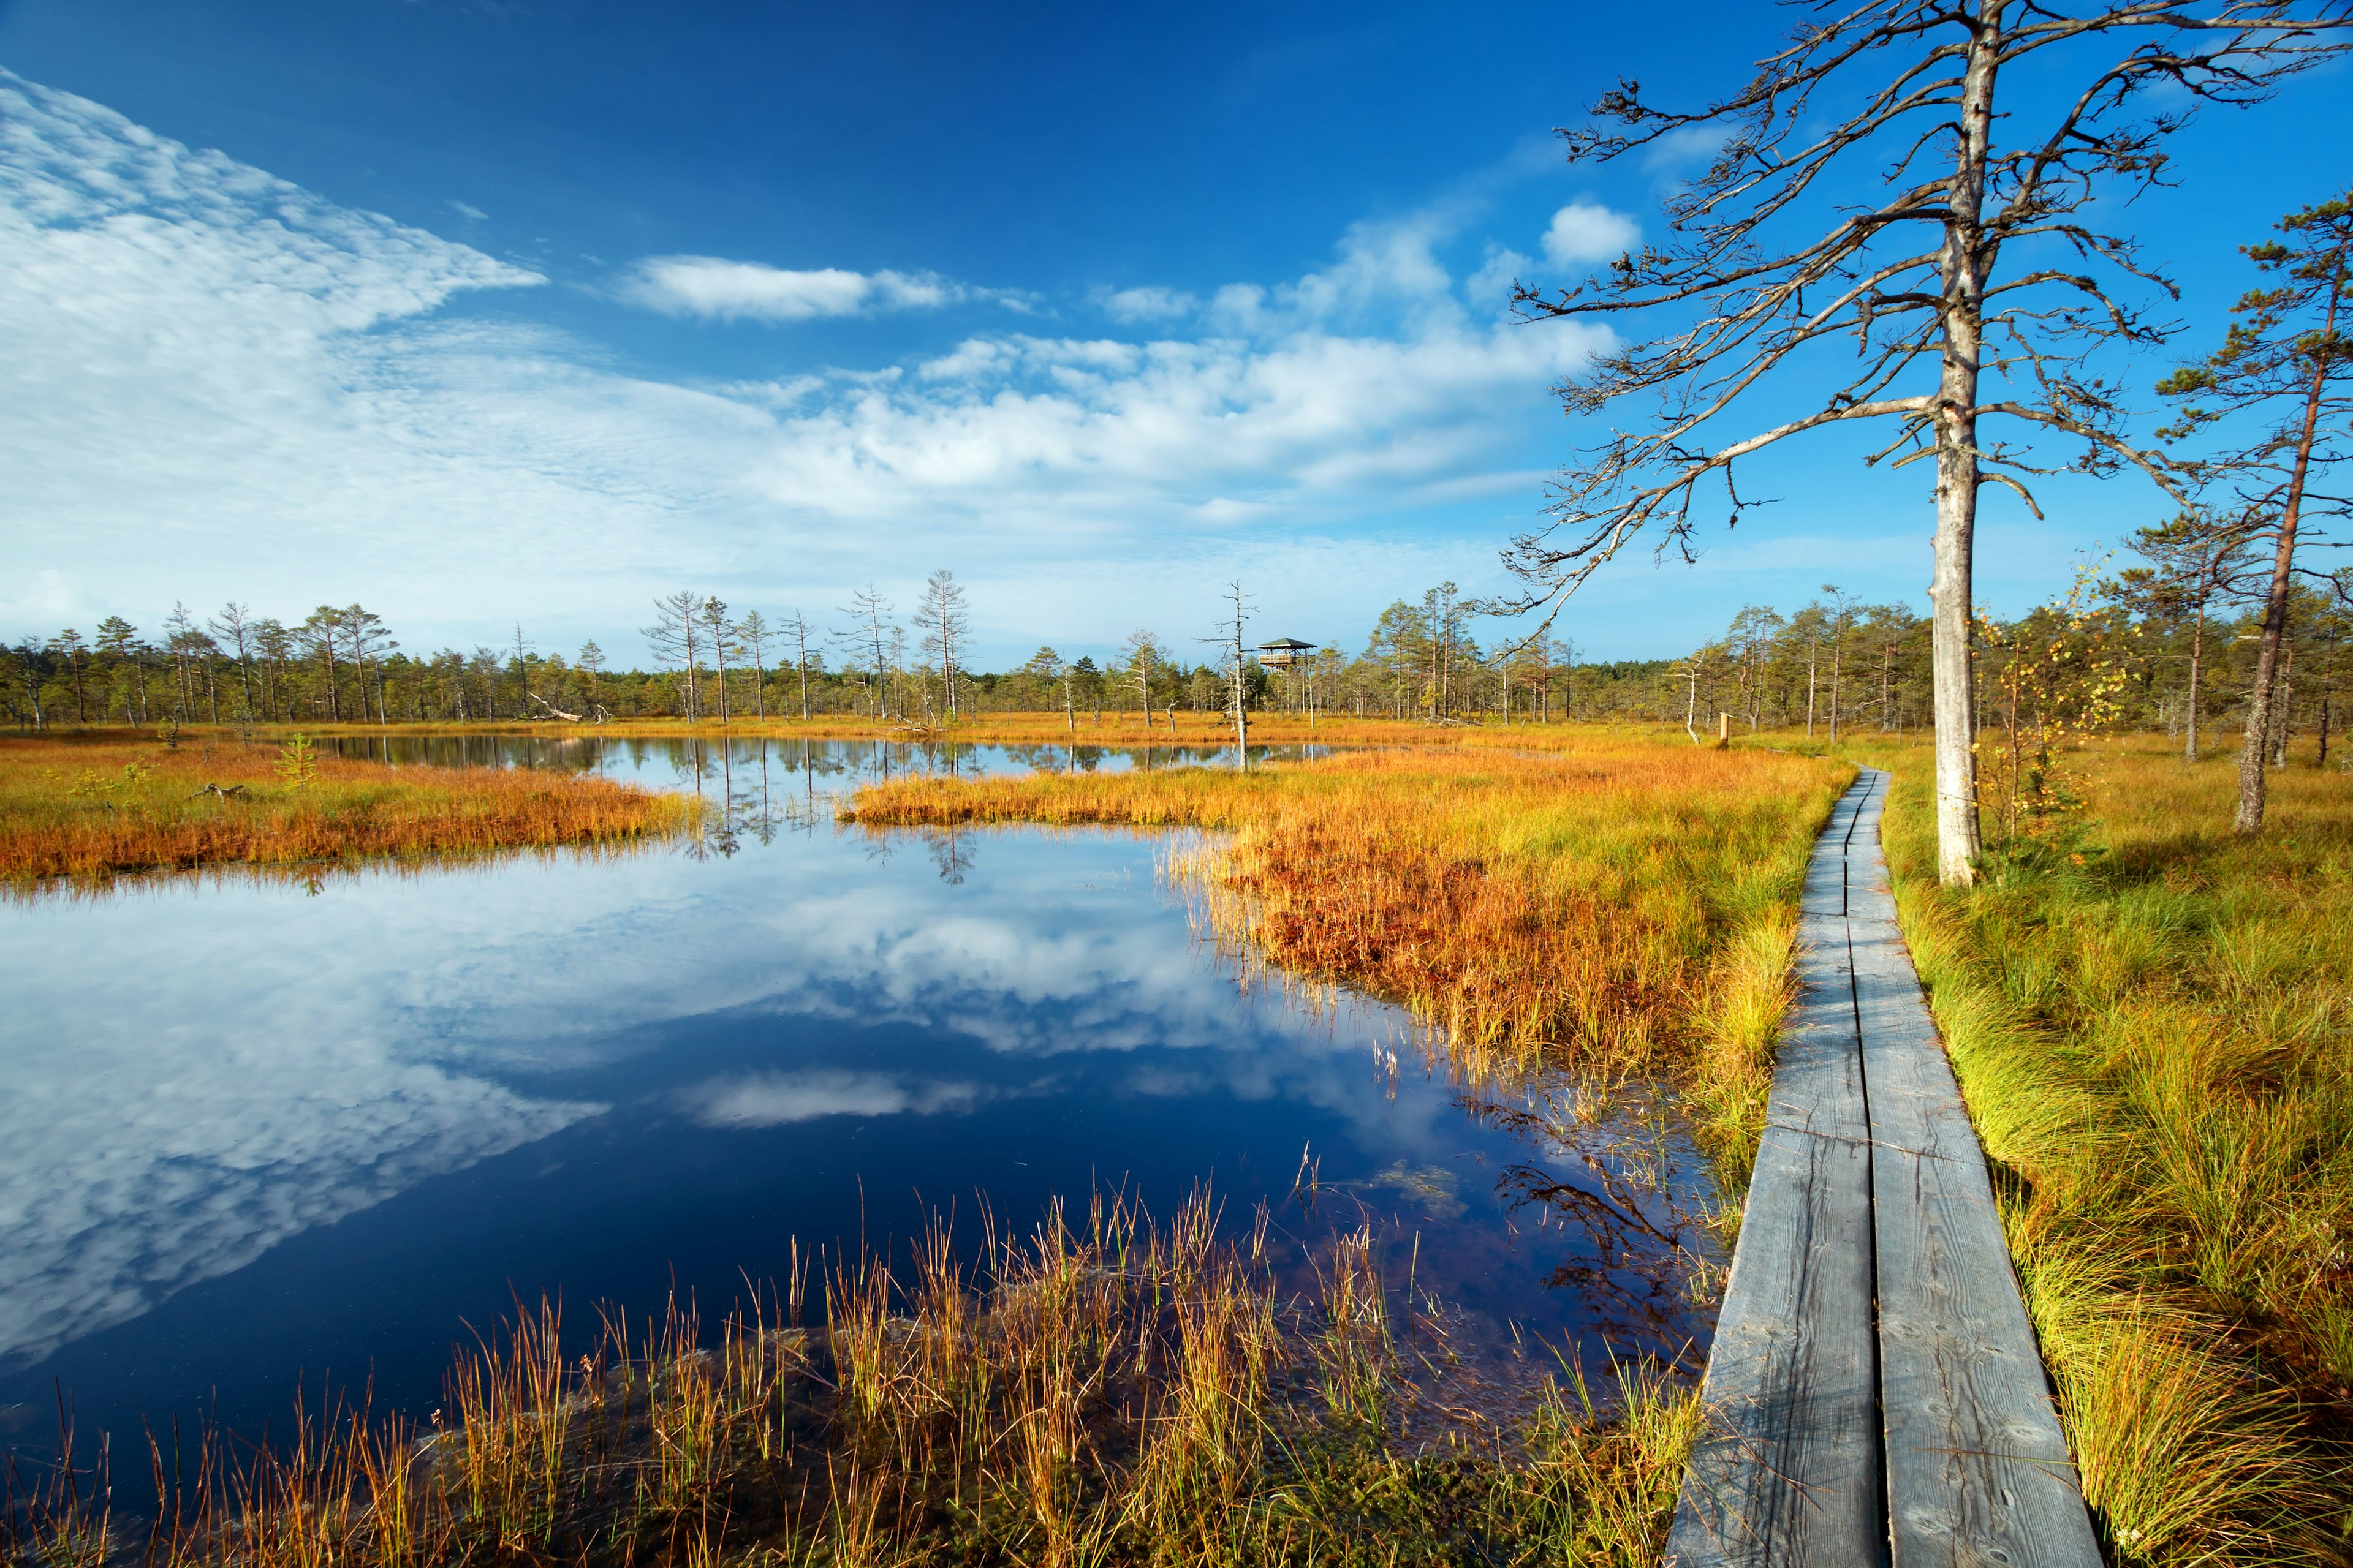
[[[1857,785],[1861,790],[1864,785]],[[1725,1284],[1666,1561],[1765,1568],[1885,1561],[1871,1314],[1871,1140],[1845,919],[1845,832],[1817,846],[1798,1004]]]

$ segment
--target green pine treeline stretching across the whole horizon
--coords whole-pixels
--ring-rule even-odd
[[[2014,736],[2021,715],[2068,708],[2066,724],[2172,736],[2186,755],[2233,748],[2254,703],[2266,618],[2259,552],[2217,543],[2195,517],[2141,529],[2139,564],[2089,578],[2059,604],[2017,621],[1979,616],[1972,703],[1984,748]],[[711,595],[671,592],[642,628],[652,670],[616,670],[595,642],[572,656],[532,646],[515,628],[501,646],[412,656],[360,604],[320,607],[299,623],[226,604],[198,618],[176,607],[155,635],[108,616],[94,635],[61,630],[0,649],[0,715],[19,729],[78,724],[515,724],[527,719],[798,719],[859,717],[944,724],[988,712],[1224,715],[1231,654],[1186,661],[1136,630],[1108,661],[1066,661],[1042,646],[1012,670],[965,665],[965,590],[953,574],[925,583],[904,625],[889,599],[852,595],[833,628],[800,611],[734,611]],[[1259,712],[1320,712],[1424,722],[1640,722],[1715,738],[1718,715],[1739,733],[1802,733],[1821,743],[1859,731],[1932,726],[1927,618],[1866,604],[1835,585],[1791,611],[1746,607],[1725,635],[1685,658],[1593,661],[1558,635],[1525,642],[1452,583],[1381,611],[1355,654],[1325,646],[1289,668],[1247,658],[1240,689]],[[2266,755],[2292,736],[2344,759],[2344,592],[2297,585],[2266,705]],[[1501,635],[1497,635],[1501,632]],[[2097,693],[2097,696],[2094,696]]]

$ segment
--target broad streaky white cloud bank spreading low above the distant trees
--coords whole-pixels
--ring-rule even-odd
[[[984,331],[904,362],[671,381],[464,308],[536,273],[0,75],[0,614],[38,616],[0,632],[365,595],[412,649],[520,616],[628,658],[673,578],[824,614],[852,583],[901,592],[953,564],[1007,585],[986,618],[1026,654],[1174,630],[1172,602],[1207,607],[1242,559],[1294,585],[1289,614],[1391,597],[1421,545],[1348,538],[1541,461],[1548,383],[1607,341],[1468,299],[1440,261],[1457,228],[1358,223],[1329,266],[1235,282],[1151,334]],[[631,287],[689,320],[976,299],[696,256]],[[1478,552],[1537,498],[1499,498]]]

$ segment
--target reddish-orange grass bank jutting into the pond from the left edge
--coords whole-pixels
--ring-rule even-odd
[[[393,769],[318,757],[299,738],[0,741],[5,882],[619,844],[692,818],[687,799],[609,778]]]

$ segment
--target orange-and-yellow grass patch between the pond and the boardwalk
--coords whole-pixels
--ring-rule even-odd
[[[1692,1070],[1704,1131],[1753,1145],[1795,889],[1849,769],[1546,741],[1252,773],[908,778],[845,816],[1228,832],[1200,877],[1212,922],[1280,969],[1398,1001],[1468,1058]]]

